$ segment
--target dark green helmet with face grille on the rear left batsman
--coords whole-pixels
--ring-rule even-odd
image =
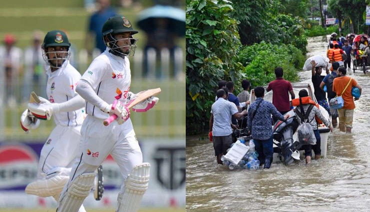
[[[47,51],[48,47],[64,46],[65,50]],[[53,68],[60,68],[70,57],[70,43],[65,32],[52,30],[46,33],[41,45],[43,60]]]

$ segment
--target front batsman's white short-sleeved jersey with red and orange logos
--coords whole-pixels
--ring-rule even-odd
[[[82,75],[94,89],[97,96],[108,104],[119,100],[125,104],[127,93],[131,84],[130,64],[127,57],[115,56],[109,53],[109,49],[97,56]],[[86,102],[85,110],[88,115],[98,119],[106,119],[108,114],[94,105]]]

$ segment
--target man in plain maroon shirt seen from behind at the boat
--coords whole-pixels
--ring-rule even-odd
[[[289,93],[291,99],[295,99],[293,92],[293,87],[291,83],[284,80],[282,77],[284,75],[281,67],[275,68],[276,79],[268,83],[267,92],[272,90],[272,104],[276,107],[277,111],[284,115],[290,110]],[[273,123],[277,121],[275,116],[273,117]]]

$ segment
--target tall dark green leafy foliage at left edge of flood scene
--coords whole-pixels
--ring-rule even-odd
[[[186,0],[186,129],[203,130],[219,80],[240,78],[232,10],[228,0]]]

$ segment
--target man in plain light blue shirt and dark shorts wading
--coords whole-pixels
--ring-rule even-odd
[[[217,90],[217,101],[212,104],[209,119],[209,132],[212,133],[214,154],[217,163],[222,164],[221,156],[226,155],[226,150],[232,144],[231,116],[240,118],[246,114],[246,110],[238,112],[236,106],[227,101],[227,88]]]

